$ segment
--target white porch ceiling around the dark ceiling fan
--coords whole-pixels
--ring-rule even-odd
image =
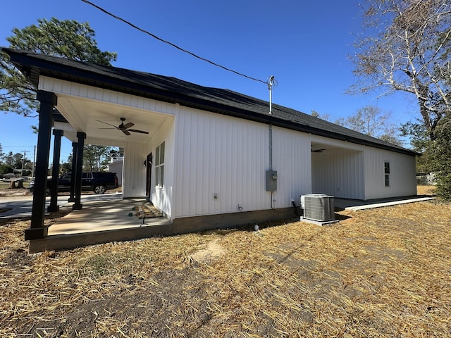
[[[110,146],[121,146],[125,142],[147,143],[168,118],[168,115],[144,109],[65,95],[58,95],[56,108],[72,127],[64,132],[64,136],[70,141],[77,142],[77,132],[85,132],[87,143],[89,139],[101,140]],[[135,124],[130,129],[143,130],[149,134],[130,132],[130,135],[125,135],[121,130],[110,126],[120,125],[121,118],[125,118],[125,124]]]

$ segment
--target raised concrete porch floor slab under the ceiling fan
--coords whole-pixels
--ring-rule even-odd
[[[48,227],[42,239],[30,240],[30,253],[78,246],[122,242],[172,233],[172,222],[159,215],[146,199],[123,199],[122,194],[85,195],[83,208],[61,206],[66,213]],[[152,213],[151,211],[155,211]]]

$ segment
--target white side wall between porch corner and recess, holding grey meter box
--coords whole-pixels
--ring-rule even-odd
[[[268,125],[180,106],[175,134],[175,218],[271,208]],[[273,128],[274,208],[310,192],[309,154],[309,135]]]

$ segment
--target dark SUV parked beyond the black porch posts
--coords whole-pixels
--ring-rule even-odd
[[[58,177],[58,192],[70,192],[70,178],[72,173],[66,173]],[[47,179],[47,187],[50,185],[51,178]],[[33,192],[35,182],[30,182],[30,192]],[[92,190],[96,194],[105,194],[106,190],[116,189],[118,187],[118,176],[116,173],[103,173],[88,171],[82,173],[82,190]],[[47,188],[46,194],[50,194]]]

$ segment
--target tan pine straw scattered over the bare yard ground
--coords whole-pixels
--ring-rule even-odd
[[[338,214],[35,254],[3,224],[0,335],[450,337],[451,204]]]

